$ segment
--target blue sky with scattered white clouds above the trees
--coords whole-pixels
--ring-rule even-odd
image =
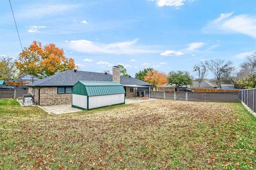
[[[222,58],[239,66],[256,50],[254,0],[11,2],[23,47],[54,43],[84,71],[123,64],[132,76],[146,67],[194,75],[200,61]],[[0,3],[0,54],[17,58],[10,4]]]

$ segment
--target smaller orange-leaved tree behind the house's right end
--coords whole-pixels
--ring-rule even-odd
[[[167,75],[165,73],[160,73],[157,70],[148,71],[144,80],[152,84],[151,90],[156,89],[157,86],[161,86],[167,83]]]

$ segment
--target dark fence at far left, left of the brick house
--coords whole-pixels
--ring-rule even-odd
[[[0,90],[0,98],[17,99],[23,95],[27,95],[28,90],[15,89],[15,90]]]

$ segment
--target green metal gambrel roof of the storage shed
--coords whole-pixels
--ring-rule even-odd
[[[101,96],[125,94],[123,85],[111,81],[78,81],[73,86],[72,94],[84,96]]]

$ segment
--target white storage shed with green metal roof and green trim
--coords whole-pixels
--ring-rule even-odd
[[[78,81],[72,90],[72,107],[92,109],[124,104],[122,84],[111,81]]]

